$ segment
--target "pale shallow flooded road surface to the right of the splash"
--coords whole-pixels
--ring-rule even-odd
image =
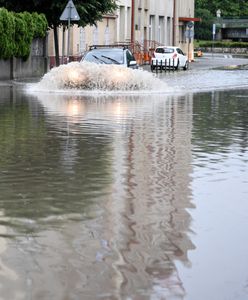
[[[150,70],[145,66],[144,70]],[[173,93],[201,92],[246,88],[248,83],[248,59],[230,55],[204,53],[195,58],[187,71],[153,72],[173,90]],[[168,89],[169,91],[169,89]]]

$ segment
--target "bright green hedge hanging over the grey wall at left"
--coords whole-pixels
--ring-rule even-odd
[[[35,37],[44,37],[47,21],[44,15],[13,13],[0,8],[0,58],[27,59]]]

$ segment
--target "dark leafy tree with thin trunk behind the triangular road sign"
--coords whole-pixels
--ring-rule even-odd
[[[37,12],[46,16],[49,28],[54,30],[56,65],[59,65],[57,28],[63,24],[59,17],[66,4],[67,0],[0,0],[0,7],[5,7],[8,10]],[[104,14],[113,12],[117,8],[115,0],[77,0],[74,4],[80,16],[80,21],[77,24],[83,27],[88,24],[94,25],[102,19]]]

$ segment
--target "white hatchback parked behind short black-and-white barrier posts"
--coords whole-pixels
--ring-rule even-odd
[[[159,46],[154,51],[151,70],[156,68],[183,68],[187,70],[189,61],[182,49],[173,46]]]

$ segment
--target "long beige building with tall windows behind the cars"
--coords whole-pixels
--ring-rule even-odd
[[[60,56],[80,57],[90,45],[130,43],[133,51],[149,53],[158,45],[180,46],[193,58],[194,0],[118,0],[113,15],[105,15],[97,26],[59,29]],[[190,38],[189,38],[190,37]],[[54,56],[53,32],[49,33],[49,56]]]

